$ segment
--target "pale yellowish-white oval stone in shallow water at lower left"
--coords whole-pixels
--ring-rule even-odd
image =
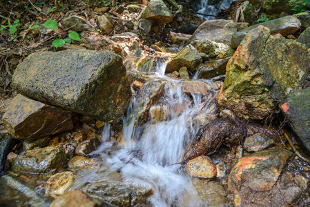
[[[58,172],[46,181],[46,195],[54,198],[64,195],[75,181],[75,174],[70,171]]]

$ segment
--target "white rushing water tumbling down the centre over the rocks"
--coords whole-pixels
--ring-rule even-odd
[[[215,91],[211,90],[211,95],[204,97],[194,93],[186,95],[180,79],[164,76],[165,67],[164,63],[157,62],[155,76],[131,101],[123,119],[124,146],[117,146],[115,150],[115,144],[108,141],[111,125],[106,124],[102,132],[104,143],[91,155],[99,156],[104,166],[108,166],[108,172],[119,172],[124,183],[151,188],[153,195],[148,201],[153,206],[203,206],[191,177],[184,172],[184,166],[176,163],[181,161],[184,147],[199,129],[194,119],[202,110],[202,101],[215,106]],[[155,86],[155,83],[164,86],[162,98],[155,105],[165,108],[168,115],[163,121],[152,123],[148,119],[146,124],[135,127],[139,124],[136,123],[137,111],[147,102],[146,98],[151,97],[148,93],[153,91],[147,86]],[[215,113],[215,109],[210,110]],[[73,188],[103,179],[106,174],[99,171],[82,172]]]

